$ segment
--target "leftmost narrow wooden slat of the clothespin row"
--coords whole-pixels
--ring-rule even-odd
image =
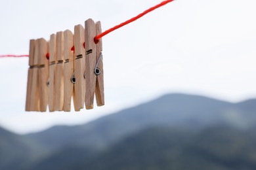
[[[28,65],[30,65],[30,68],[28,69],[28,82],[27,82],[27,95],[26,95],[26,111],[32,111],[30,110],[30,104],[31,104],[31,88],[32,88],[32,68],[33,68],[33,58],[35,53],[35,40],[30,40],[30,58],[28,61]]]

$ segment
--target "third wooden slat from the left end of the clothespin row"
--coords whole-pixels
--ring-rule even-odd
[[[38,58],[38,79],[39,79],[39,103],[40,111],[46,112],[48,104],[49,88],[47,81],[49,78],[49,63],[47,59],[48,42],[45,39],[39,39],[39,58]]]

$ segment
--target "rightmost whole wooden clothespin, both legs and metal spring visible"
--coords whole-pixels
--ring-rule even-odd
[[[97,31],[96,31],[97,30]],[[104,105],[102,41],[95,44],[95,36],[101,32],[100,22],[85,21],[85,107],[93,109],[94,96],[98,106]]]

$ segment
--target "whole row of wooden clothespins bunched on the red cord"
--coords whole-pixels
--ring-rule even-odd
[[[30,41],[27,111],[71,110],[73,96],[75,111],[104,105],[104,75],[100,22],[89,19],[75,25],[74,35],[66,30],[45,39]],[[86,45],[85,45],[86,44]],[[49,59],[47,59],[49,54]],[[49,82],[47,82],[49,80]],[[47,87],[48,86],[48,87]]]

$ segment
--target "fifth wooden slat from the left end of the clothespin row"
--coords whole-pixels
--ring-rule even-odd
[[[55,110],[63,110],[64,103],[64,34],[63,31],[56,33],[56,97]]]

